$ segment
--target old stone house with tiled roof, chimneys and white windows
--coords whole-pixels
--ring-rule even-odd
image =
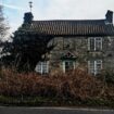
[[[52,36],[49,45],[54,49],[49,60],[39,62],[36,71],[52,73],[67,72],[77,67],[97,75],[103,69],[114,69],[113,12],[107,11],[102,20],[55,20],[33,21],[30,12],[25,13],[24,23],[28,30],[43,37]]]

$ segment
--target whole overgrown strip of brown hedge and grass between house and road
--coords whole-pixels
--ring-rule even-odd
[[[114,84],[104,76],[97,78],[81,69],[41,76],[2,68],[0,104],[114,107]]]

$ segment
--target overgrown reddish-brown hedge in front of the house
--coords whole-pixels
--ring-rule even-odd
[[[80,99],[99,97],[103,84],[81,69],[66,74],[40,76],[36,73],[16,73],[3,69],[0,78],[0,94],[11,97],[48,97]]]

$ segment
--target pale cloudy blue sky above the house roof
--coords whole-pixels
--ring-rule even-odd
[[[107,10],[114,11],[114,0],[0,0],[10,25],[10,33],[23,24],[28,2],[33,1],[34,20],[99,20]]]

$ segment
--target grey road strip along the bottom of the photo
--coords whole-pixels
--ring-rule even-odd
[[[114,110],[1,106],[0,114],[114,114]]]

